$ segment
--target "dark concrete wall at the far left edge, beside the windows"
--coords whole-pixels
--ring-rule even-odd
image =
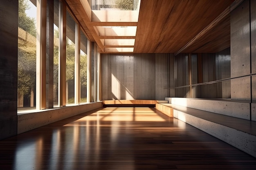
[[[1,1],[0,139],[17,134],[17,54],[18,1]]]

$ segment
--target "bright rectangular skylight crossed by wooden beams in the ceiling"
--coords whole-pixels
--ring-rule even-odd
[[[102,53],[133,52],[140,0],[88,0],[90,28]]]

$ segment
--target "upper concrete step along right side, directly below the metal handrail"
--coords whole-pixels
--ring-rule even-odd
[[[231,99],[166,97],[168,103],[250,120],[250,102]]]

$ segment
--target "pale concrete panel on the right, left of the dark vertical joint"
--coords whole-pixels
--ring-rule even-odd
[[[230,16],[231,78],[251,73],[249,2],[243,1]],[[251,77],[231,79],[231,99],[251,100]]]

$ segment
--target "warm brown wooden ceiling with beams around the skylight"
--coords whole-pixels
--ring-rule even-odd
[[[229,6],[235,0],[141,0],[138,22],[130,23],[92,22],[82,0],[66,1],[100,53],[117,51],[105,50],[111,45],[105,46],[96,26],[137,26],[134,53],[214,53],[230,46]]]

